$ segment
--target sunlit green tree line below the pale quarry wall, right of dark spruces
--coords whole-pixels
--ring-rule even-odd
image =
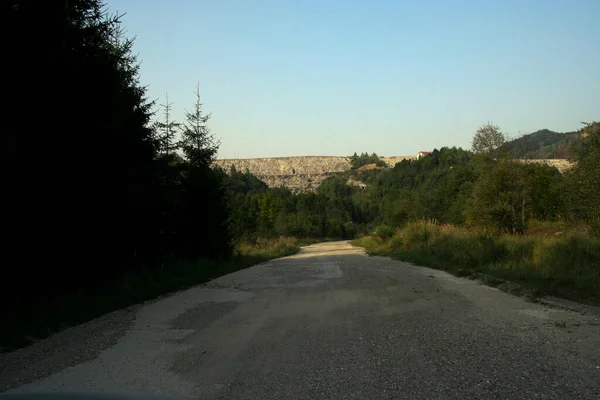
[[[506,136],[491,123],[475,132],[472,151],[444,147],[394,168],[340,173],[316,193],[269,189],[249,172],[232,169],[227,178],[230,222],[236,237],[347,238],[421,219],[516,234],[532,220],[566,221],[583,223],[597,234],[599,132],[598,122],[579,131],[578,162],[564,174],[548,165],[514,161],[506,151]],[[351,159],[356,166],[379,161],[367,153]],[[366,188],[348,185],[349,178]]]

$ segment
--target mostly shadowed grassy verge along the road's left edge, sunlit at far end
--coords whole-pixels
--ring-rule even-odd
[[[258,239],[252,244],[239,244],[230,260],[174,262],[161,269],[127,274],[94,291],[69,293],[44,299],[39,304],[13,308],[8,315],[2,316],[0,351],[27,346],[108,312],[187,289],[263,261],[292,255],[299,250],[297,240],[293,238]]]

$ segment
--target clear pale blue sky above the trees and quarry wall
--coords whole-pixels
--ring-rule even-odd
[[[410,155],[600,119],[600,0],[107,0],[220,158]]]

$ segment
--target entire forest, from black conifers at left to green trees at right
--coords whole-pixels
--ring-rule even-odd
[[[178,260],[227,260],[265,237],[353,238],[423,218],[515,234],[532,220],[600,231],[598,123],[578,133],[578,164],[565,175],[509,161],[510,146],[482,142],[485,151],[442,148],[389,169],[359,171],[384,164],[355,154],[354,170],[316,193],[292,194],[212,167],[219,142],[199,95],[184,121],[173,119],[168,99],[148,99],[133,41],[102,1],[6,1],[1,25],[11,38],[3,312],[84,296]]]

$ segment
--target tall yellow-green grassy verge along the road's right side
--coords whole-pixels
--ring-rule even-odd
[[[491,235],[430,222],[353,242],[385,255],[468,276],[515,294],[600,303],[600,240],[563,235]]]

